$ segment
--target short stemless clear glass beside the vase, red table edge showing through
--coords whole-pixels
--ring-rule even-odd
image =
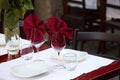
[[[32,44],[22,44],[20,46],[20,55],[24,60],[31,60],[34,56]]]

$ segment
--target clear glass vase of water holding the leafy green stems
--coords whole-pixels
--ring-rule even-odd
[[[5,40],[8,60],[17,58],[20,45],[19,27],[17,26],[12,30],[5,27]]]

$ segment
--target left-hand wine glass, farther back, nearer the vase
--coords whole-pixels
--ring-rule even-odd
[[[42,46],[42,44],[44,44],[44,42],[45,42],[44,38],[43,38],[43,34],[41,34],[39,29],[37,29],[37,28],[33,28],[31,30],[30,41],[31,41],[34,49],[36,50],[36,52],[39,51],[40,46]]]

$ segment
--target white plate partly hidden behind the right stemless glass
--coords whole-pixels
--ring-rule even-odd
[[[65,53],[75,53],[77,55],[78,61],[84,60],[88,55],[88,53],[85,51],[77,51],[77,50],[73,50],[73,49],[63,49],[60,52],[60,55],[58,55],[57,53],[52,53],[51,58],[57,59],[57,60],[62,60],[63,54],[65,54]]]

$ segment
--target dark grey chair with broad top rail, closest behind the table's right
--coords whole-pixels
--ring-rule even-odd
[[[81,41],[80,49],[78,49],[78,45],[79,45],[80,41]],[[80,32],[80,31],[78,31],[78,32],[76,32],[76,36],[75,36],[75,47],[74,47],[74,49],[84,50],[85,41],[89,41],[89,42],[90,41],[117,42],[119,44],[120,43],[120,35],[112,34],[112,33],[106,33],[106,32]],[[99,46],[98,46],[98,53],[102,53],[100,51]],[[120,54],[119,54],[118,57],[120,57]]]

